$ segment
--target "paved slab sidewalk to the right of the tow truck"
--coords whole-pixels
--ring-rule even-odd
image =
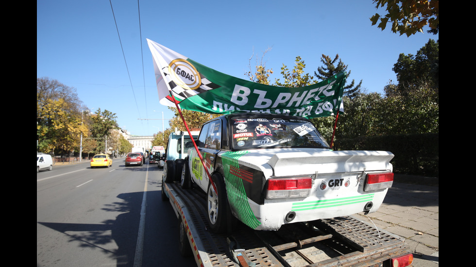
[[[397,175],[380,208],[358,219],[405,238],[414,267],[439,265],[438,178]]]

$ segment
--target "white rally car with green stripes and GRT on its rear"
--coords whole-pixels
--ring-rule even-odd
[[[181,184],[206,192],[215,232],[229,230],[236,219],[255,230],[277,230],[285,223],[374,212],[393,181],[393,154],[332,151],[302,117],[224,115],[202,126],[196,144],[205,164],[189,149]]]

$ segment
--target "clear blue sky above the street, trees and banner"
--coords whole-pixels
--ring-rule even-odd
[[[146,38],[241,79],[248,79],[253,53],[261,57],[269,47],[264,61],[272,81],[282,80],[282,65],[292,69],[296,56],[312,74],[322,54],[339,54],[351,71],[348,82],[362,79],[363,89],[382,94],[396,82],[391,69],[400,53],[414,55],[439,39],[372,26],[371,16],[385,14],[372,0],[111,2],[112,9],[107,0],[37,0],[36,77],[76,88],[85,106],[116,113],[133,135],[162,131],[169,123],[157,119],[173,116],[159,104]]]

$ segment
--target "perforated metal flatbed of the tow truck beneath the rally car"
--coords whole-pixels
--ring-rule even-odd
[[[296,222],[277,231],[238,225],[232,233],[208,229],[206,197],[179,182],[162,184],[180,229],[180,251],[198,267],[405,267],[413,255],[402,237],[352,216]]]

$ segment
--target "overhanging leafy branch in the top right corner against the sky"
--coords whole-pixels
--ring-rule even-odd
[[[387,14],[380,16],[375,13],[370,18],[372,26],[385,30],[391,22],[391,31],[406,34],[407,37],[416,32],[423,32],[428,25],[428,32],[437,34],[439,31],[439,3],[438,0],[374,0],[375,8],[386,7]]]

